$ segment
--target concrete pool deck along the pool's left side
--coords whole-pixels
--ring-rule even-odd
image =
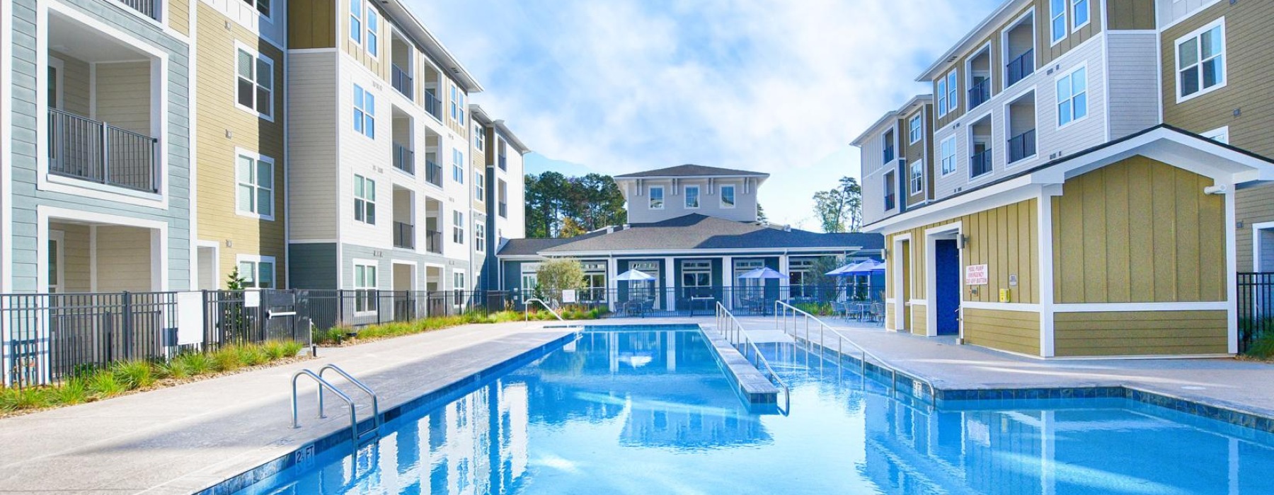
[[[315,386],[302,382],[302,428],[292,428],[289,380],[302,368],[340,365],[377,392],[383,411],[573,331],[543,322],[469,324],[9,417],[0,420],[0,494],[189,494],[347,426],[349,416],[334,403],[327,419],[315,417]],[[369,406],[358,412],[367,417]]]

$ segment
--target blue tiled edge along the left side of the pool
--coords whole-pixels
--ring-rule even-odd
[[[527,351],[525,351],[522,354],[519,354],[517,356],[507,359],[507,360],[505,360],[502,363],[493,364],[490,366],[483,368],[482,370],[479,370],[476,373],[465,375],[465,377],[462,377],[462,378],[460,378],[460,379],[457,379],[457,380],[455,380],[455,382],[452,382],[450,384],[446,384],[446,386],[443,386],[443,387],[441,387],[438,389],[434,389],[434,391],[428,392],[428,393],[426,393],[423,396],[419,396],[417,398],[413,398],[413,400],[409,400],[406,402],[403,402],[403,403],[400,403],[397,406],[390,407],[390,408],[387,408],[387,410],[385,410],[385,411],[381,412],[381,421],[382,422],[389,422],[389,421],[391,421],[391,420],[394,420],[396,417],[403,416],[403,414],[405,414],[408,411],[412,411],[412,410],[415,410],[418,407],[426,406],[426,405],[428,405],[431,402],[443,401],[443,400],[447,400],[447,401],[455,400],[455,398],[462,396],[464,393],[468,393],[468,391],[465,389],[466,387],[474,386],[476,383],[482,383],[487,377],[503,374],[503,372],[507,372],[510,369],[515,369],[515,368],[522,366],[522,365],[525,365],[527,363],[531,363],[531,361],[534,361],[536,359],[540,359],[540,358],[548,355],[549,352],[552,352],[552,351],[554,351],[554,350],[557,350],[557,349],[559,349],[559,347],[569,344],[571,341],[578,338],[581,332],[582,332],[582,330],[581,331],[569,332],[569,333],[563,335],[563,336],[561,336],[558,338],[554,338],[554,340],[552,340],[549,342],[545,342],[545,344],[541,344],[541,345],[539,345],[536,347],[533,347],[533,349],[530,349],[530,350],[527,350]],[[371,417],[368,417],[368,419],[364,419],[364,420],[359,421],[358,425],[359,425],[361,429],[366,429],[366,428],[368,428],[368,424],[372,422],[372,421],[373,420]],[[274,459],[266,461],[265,463],[262,463],[262,464],[260,464],[257,467],[254,467],[251,470],[247,470],[245,472],[234,475],[234,476],[232,476],[229,478],[219,481],[219,482],[217,482],[217,484],[214,484],[211,486],[208,486],[208,487],[205,487],[203,490],[196,491],[195,494],[197,494],[197,495],[229,495],[229,494],[234,494],[234,492],[237,492],[240,490],[243,490],[243,489],[251,486],[252,484],[256,484],[257,481],[265,480],[265,478],[268,478],[270,476],[274,476],[274,475],[278,475],[278,473],[283,472],[284,470],[288,470],[288,468],[290,468],[293,466],[297,466],[298,463],[310,462],[315,457],[317,457],[318,454],[321,454],[322,452],[326,452],[326,450],[329,450],[329,449],[331,449],[334,447],[345,444],[348,442],[350,442],[350,428],[349,426],[343,428],[343,429],[336,430],[336,431],[333,431],[333,433],[325,435],[322,438],[318,438],[316,440],[303,443],[303,444],[298,445],[296,449],[293,449],[293,450],[290,450],[290,452],[288,452],[288,453],[285,453],[283,456],[279,456],[279,457],[276,457]]]

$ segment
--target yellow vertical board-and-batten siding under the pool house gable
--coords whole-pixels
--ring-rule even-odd
[[[1210,178],[1133,157],[1052,197],[1057,303],[1226,300],[1224,196]]]

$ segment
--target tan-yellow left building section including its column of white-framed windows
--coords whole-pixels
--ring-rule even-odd
[[[287,288],[287,1],[192,1],[197,289]]]

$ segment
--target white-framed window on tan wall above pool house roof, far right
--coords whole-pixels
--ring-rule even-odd
[[[1177,101],[1226,87],[1226,18],[1177,39]]]

